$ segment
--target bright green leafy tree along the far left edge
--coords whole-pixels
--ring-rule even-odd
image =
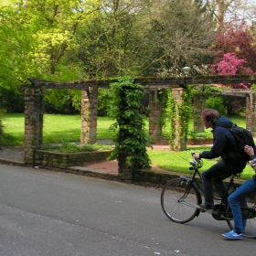
[[[18,112],[24,107],[19,85],[33,72],[27,57],[31,50],[30,32],[19,9],[19,5],[8,1],[0,4],[0,108]],[[15,104],[10,101],[14,99]]]

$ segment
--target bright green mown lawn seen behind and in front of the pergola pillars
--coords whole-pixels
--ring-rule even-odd
[[[233,123],[240,126],[245,126],[244,117],[230,117]],[[24,114],[23,113],[5,113],[2,115],[5,133],[8,135],[5,138],[5,145],[23,144],[24,141]],[[113,132],[109,127],[113,123],[108,117],[98,117],[97,123],[97,139],[112,139]],[[148,124],[146,125],[148,127]],[[192,131],[193,123],[189,123],[189,130]],[[163,133],[167,136],[167,126]],[[191,133],[190,133],[191,134]],[[195,134],[192,134],[194,136]],[[209,129],[204,134],[205,137],[210,137]],[[191,137],[191,135],[190,135]],[[44,115],[44,130],[43,143],[59,143],[77,142],[80,141],[80,115],[65,115],[65,114],[45,114]],[[189,172],[188,161],[191,160],[191,152],[199,153],[203,150],[208,150],[208,147],[187,146],[187,151],[172,152],[172,151],[157,151],[149,150],[148,155],[154,165],[165,170],[172,170],[178,172]],[[204,159],[204,166],[201,170],[207,169],[214,164],[216,160]],[[253,174],[252,168],[247,166],[243,172],[243,178],[251,178]]]

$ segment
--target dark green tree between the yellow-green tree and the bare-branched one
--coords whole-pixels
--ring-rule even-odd
[[[147,1],[102,1],[98,15],[80,27],[80,59],[91,78],[134,74],[149,29]]]

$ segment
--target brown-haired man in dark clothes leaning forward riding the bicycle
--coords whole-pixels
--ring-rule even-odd
[[[212,184],[217,188],[219,196],[223,197],[226,191],[223,179],[232,174],[241,173],[246,160],[240,155],[236,140],[227,129],[233,125],[229,118],[219,116],[216,110],[206,109],[202,112],[202,120],[206,129],[212,128],[213,145],[209,151],[196,154],[195,159],[221,157],[219,162],[202,173],[205,203],[198,205],[198,208],[207,211],[214,207]]]

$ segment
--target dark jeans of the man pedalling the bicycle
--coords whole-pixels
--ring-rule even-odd
[[[223,197],[227,189],[223,179],[231,176],[237,171],[232,165],[227,164],[222,159],[215,165],[212,165],[208,170],[202,173],[202,181],[205,195],[205,204],[208,207],[213,207],[213,187],[216,187],[219,192],[219,197]]]

